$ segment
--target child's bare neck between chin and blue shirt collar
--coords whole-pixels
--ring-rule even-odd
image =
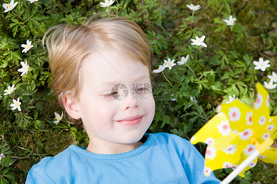
[[[110,143],[103,140],[100,140],[96,137],[94,140],[90,140],[89,145],[86,149],[88,152],[97,153],[97,154],[119,154],[126,153],[132,150],[135,150],[143,143],[135,142],[131,144],[119,144],[119,143]],[[97,139],[97,140],[96,140]]]

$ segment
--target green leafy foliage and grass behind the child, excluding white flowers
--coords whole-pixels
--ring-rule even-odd
[[[103,8],[99,0],[17,0],[6,13],[0,8],[0,183],[24,183],[28,170],[45,156],[53,156],[70,144],[86,146],[83,129],[64,120],[54,124],[54,112],[62,113],[48,88],[51,73],[41,39],[45,31],[62,23],[81,24],[87,12],[113,12],[138,23],[149,38],[153,69],[165,59],[180,61],[189,55],[187,65],[153,74],[153,82],[167,83],[167,99],[157,100],[156,115],[149,132],[170,132],[189,139],[215,115],[215,107],[235,94],[252,106],[255,83],[269,82],[267,75],[277,72],[277,0],[116,0]],[[9,3],[0,0],[0,4]],[[200,4],[194,12],[187,4]],[[222,19],[233,15],[234,26]],[[206,35],[207,48],[192,46],[190,39]],[[33,48],[22,53],[21,44],[32,41]],[[255,70],[253,61],[270,60],[266,71]],[[30,64],[27,75],[17,70],[21,61]],[[7,86],[16,90],[3,96]],[[269,90],[271,115],[277,116],[277,89]],[[172,96],[173,94],[173,96]],[[190,100],[195,96],[198,103]],[[21,111],[11,110],[12,99],[20,97]],[[196,146],[205,153],[206,146]],[[267,172],[264,172],[267,171]],[[224,179],[231,169],[217,170]],[[233,183],[262,184],[277,181],[277,166],[258,162]]]

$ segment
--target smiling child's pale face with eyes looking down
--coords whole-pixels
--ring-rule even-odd
[[[91,142],[136,143],[155,113],[149,70],[128,56],[98,51],[80,69],[78,115]]]

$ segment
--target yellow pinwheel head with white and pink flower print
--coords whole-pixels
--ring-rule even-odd
[[[250,156],[252,159],[247,159],[248,163],[243,162],[244,167],[238,173],[241,177],[256,165],[257,156],[264,162],[277,164],[277,150],[271,147],[277,138],[277,116],[270,117],[268,92],[260,83],[257,83],[256,89],[258,94],[254,109],[238,99],[223,104],[218,108],[219,113],[191,138],[192,144],[208,144],[204,168],[206,176],[216,169],[236,169]]]

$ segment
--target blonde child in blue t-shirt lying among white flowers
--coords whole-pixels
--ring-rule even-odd
[[[155,113],[146,85],[153,55],[136,23],[113,17],[58,25],[45,35],[50,31],[51,88],[90,142],[43,158],[29,171],[27,184],[219,183],[213,174],[204,176],[204,158],[188,141],[145,134]]]

